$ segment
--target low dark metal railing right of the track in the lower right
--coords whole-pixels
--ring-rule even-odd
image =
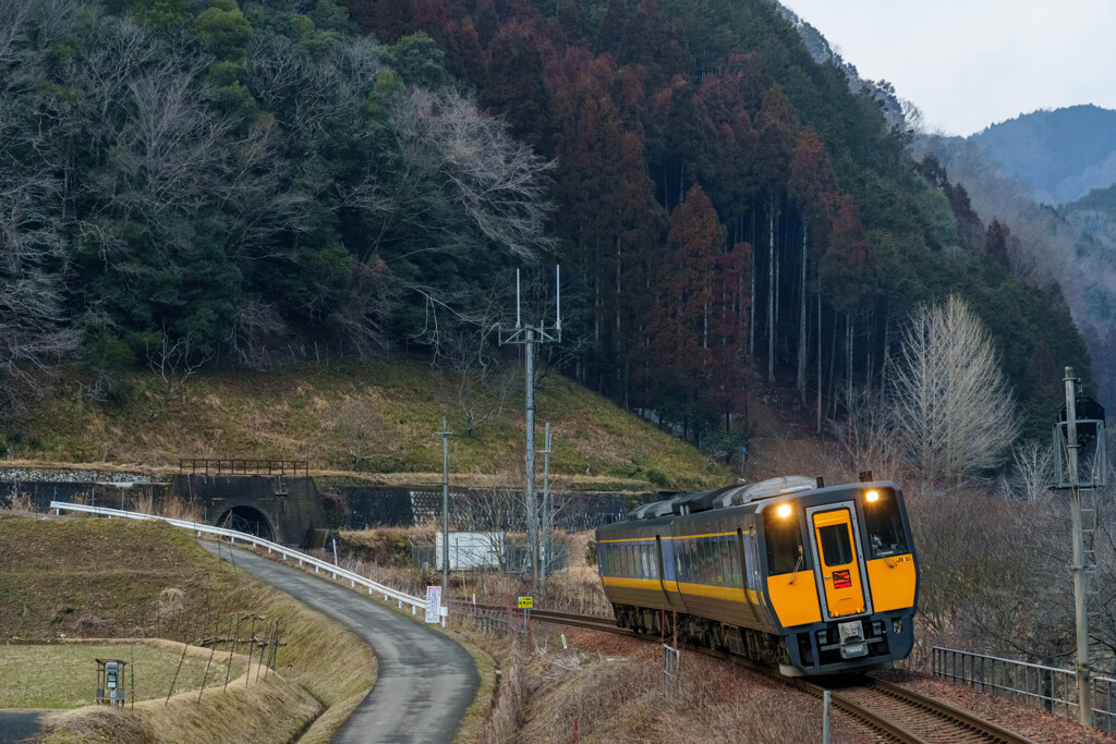
[[[1041,664],[933,647],[934,676],[1026,702],[1047,713],[1078,719],[1077,675]],[[1116,679],[1093,676],[1093,718],[1097,728],[1116,729]]]

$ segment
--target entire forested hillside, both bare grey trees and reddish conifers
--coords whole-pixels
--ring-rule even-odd
[[[384,354],[483,390],[560,262],[551,365],[703,442],[745,365],[840,415],[950,292],[1045,429],[1081,339],[910,146],[766,0],[11,0],[0,417],[59,365],[108,406]]]

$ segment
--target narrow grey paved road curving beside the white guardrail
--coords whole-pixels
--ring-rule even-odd
[[[205,547],[217,552],[217,543]],[[453,741],[480,684],[464,648],[352,589],[242,550],[235,558],[238,569],[328,615],[375,649],[376,684],[334,742]]]

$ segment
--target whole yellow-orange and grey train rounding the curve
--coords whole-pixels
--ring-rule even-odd
[[[638,506],[596,530],[617,625],[787,676],[867,671],[914,644],[918,561],[891,481],[781,476]]]

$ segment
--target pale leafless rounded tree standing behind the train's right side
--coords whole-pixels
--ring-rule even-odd
[[[896,432],[924,486],[1000,465],[1019,431],[991,336],[955,296],[915,313],[893,393]]]

